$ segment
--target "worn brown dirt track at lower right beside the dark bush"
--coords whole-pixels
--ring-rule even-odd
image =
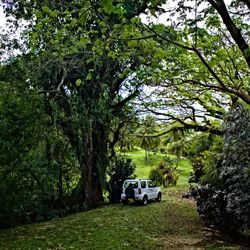
[[[183,199],[183,192],[168,195],[172,200],[167,211],[171,214],[171,228],[161,238],[164,249],[250,249],[245,244],[233,242],[215,228],[205,226],[197,213],[190,216],[196,204],[192,198]],[[180,203],[183,204],[181,209]]]

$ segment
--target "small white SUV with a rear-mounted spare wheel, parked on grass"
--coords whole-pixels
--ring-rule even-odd
[[[148,200],[161,201],[160,187],[156,187],[151,180],[130,179],[125,180],[122,187],[121,200],[127,204],[130,200],[140,201],[147,205]]]

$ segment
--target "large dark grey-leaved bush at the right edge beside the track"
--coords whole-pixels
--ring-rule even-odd
[[[223,128],[222,158],[216,164],[219,181],[210,180],[211,184],[192,191],[204,220],[235,234],[250,228],[249,112],[242,106],[234,107]]]

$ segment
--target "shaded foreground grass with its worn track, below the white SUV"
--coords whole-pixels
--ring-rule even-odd
[[[159,158],[159,156],[158,156]],[[157,160],[158,160],[157,158]],[[141,161],[139,153],[135,161]],[[192,200],[182,199],[190,167],[180,182],[163,189],[162,202],[106,205],[61,219],[0,230],[0,249],[247,249],[205,228]],[[137,169],[144,175],[150,166]],[[144,177],[147,177],[144,176]]]

